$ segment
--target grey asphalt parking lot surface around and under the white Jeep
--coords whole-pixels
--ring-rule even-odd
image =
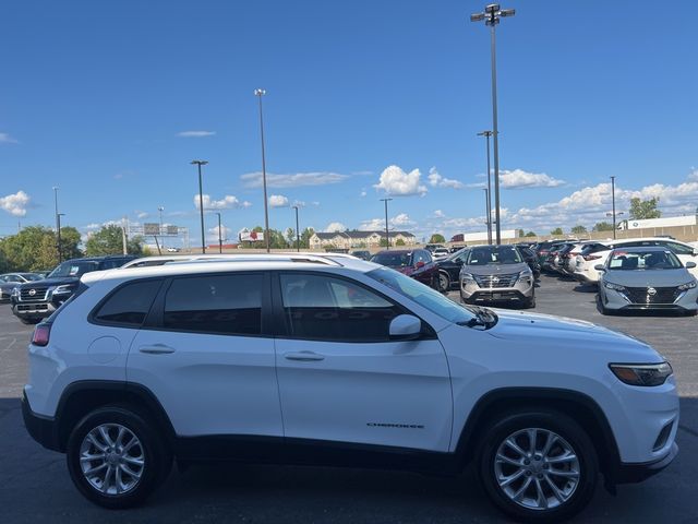
[[[698,318],[602,317],[590,289],[542,276],[537,312],[589,320],[641,338],[672,362],[682,396],[681,452],[660,475],[601,487],[576,523],[698,522]],[[453,298],[457,294],[452,294]],[[20,412],[31,326],[0,305],[0,508],[7,523],[500,523],[472,472],[458,478],[291,466],[216,465],[173,473],[143,508],[108,511],[73,488],[61,454],[26,433]],[[561,348],[562,350],[563,348]]]

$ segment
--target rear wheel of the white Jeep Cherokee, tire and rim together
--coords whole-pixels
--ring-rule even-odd
[[[73,484],[109,509],[143,502],[167,477],[172,456],[146,418],[129,406],[106,406],[85,416],[67,449]]]

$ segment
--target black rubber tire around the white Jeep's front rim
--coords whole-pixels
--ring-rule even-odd
[[[559,464],[553,466],[551,466],[550,464],[545,465],[544,461],[538,462],[537,466],[531,465],[530,467],[546,467],[546,469],[542,472],[539,469],[540,473],[538,474],[526,473],[520,477],[521,486],[515,483],[512,483],[509,485],[512,489],[518,490],[521,489],[522,485],[527,481],[527,479],[529,479],[530,484],[528,488],[525,488],[521,502],[512,500],[510,496],[507,495],[502,487],[500,487],[496,478],[497,473],[495,469],[495,467],[497,467],[497,451],[500,450],[500,446],[504,444],[505,440],[514,434],[524,436],[525,440],[518,440],[517,443],[526,442],[527,433],[525,430],[529,428],[535,428],[538,430],[538,445],[535,446],[535,449],[542,448],[542,445],[544,445],[545,432],[553,432],[562,438],[562,440],[554,441],[555,443],[551,446],[551,454],[554,455],[558,452],[555,448],[557,445],[559,446],[559,449],[563,449],[563,444],[565,444],[569,446],[569,449],[571,449],[571,452],[576,455],[577,458],[576,467],[578,467],[579,473],[577,485],[576,487],[574,487],[574,489],[569,488],[571,481],[566,479],[566,477],[558,477],[554,474],[549,475],[546,473],[553,471],[553,468],[557,471],[558,467],[567,466],[562,466]],[[521,433],[518,433],[519,431],[521,431]],[[528,441],[530,442],[530,439]],[[528,451],[528,449],[526,449],[526,451]],[[562,456],[562,454],[555,456]],[[591,439],[585,432],[582,427],[579,426],[575,420],[569,418],[567,415],[553,409],[549,410],[545,408],[531,408],[509,413],[502,416],[500,419],[494,421],[483,434],[481,444],[479,446],[478,457],[478,469],[480,479],[488,496],[490,497],[490,499],[492,499],[495,505],[497,505],[497,508],[520,522],[547,523],[559,522],[565,519],[569,519],[570,516],[581,511],[589,503],[594,493],[597,481],[599,478],[599,461],[595,448],[591,442]],[[521,461],[524,460],[525,458],[522,458]],[[503,464],[498,466],[501,471],[504,471],[506,467],[513,468],[510,471],[518,471],[525,467],[510,466],[506,463],[502,463],[502,461],[500,461],[500,463]],[[533,464],[533,462],[529,462],[529,464]],[[569,467],[573,467],[571,464],[569,464]],[[570,490],[569,493],[567,493],[568,498],[553,508],[533,509],[526,507],[527,496],[529,497],[528,503],[533,503],[530,502],[530,497],[533,492],[535,492],[537,489],[535,484],[533,483],[539,481],[537,478],[543,478],[541,476],[543,474],[545,474],[545,476],[549,476],[549,478],[557,479],[557,481],[561,484],[557,484],[556,486],[558,487],[558,489],[562,489],[563,492],[565,490]],[[532,481],[530,479],[532,479]],[[546,491],[544,493],[546,500],[545,504],[551,504],[551,497],[554,499],[553,503],[555,503],[556,500],[559,500],[554,498],[554,492],[546,484],[545,479],[540,481],[542,483],[542,486],[544,486],[543,489]],[[529,490],[533,491],[531,492]]]

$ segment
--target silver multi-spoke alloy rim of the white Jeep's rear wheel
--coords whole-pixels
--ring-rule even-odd
[[[132,491],[145,471],[143,444],[125,426],[103,424],[80,446],[80,467],[87,483],[103,495]]]

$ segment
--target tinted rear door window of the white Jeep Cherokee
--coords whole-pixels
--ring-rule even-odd
[[[164,327],[226,335],[262,333],[262,274],[176,278],[165,296]]]

